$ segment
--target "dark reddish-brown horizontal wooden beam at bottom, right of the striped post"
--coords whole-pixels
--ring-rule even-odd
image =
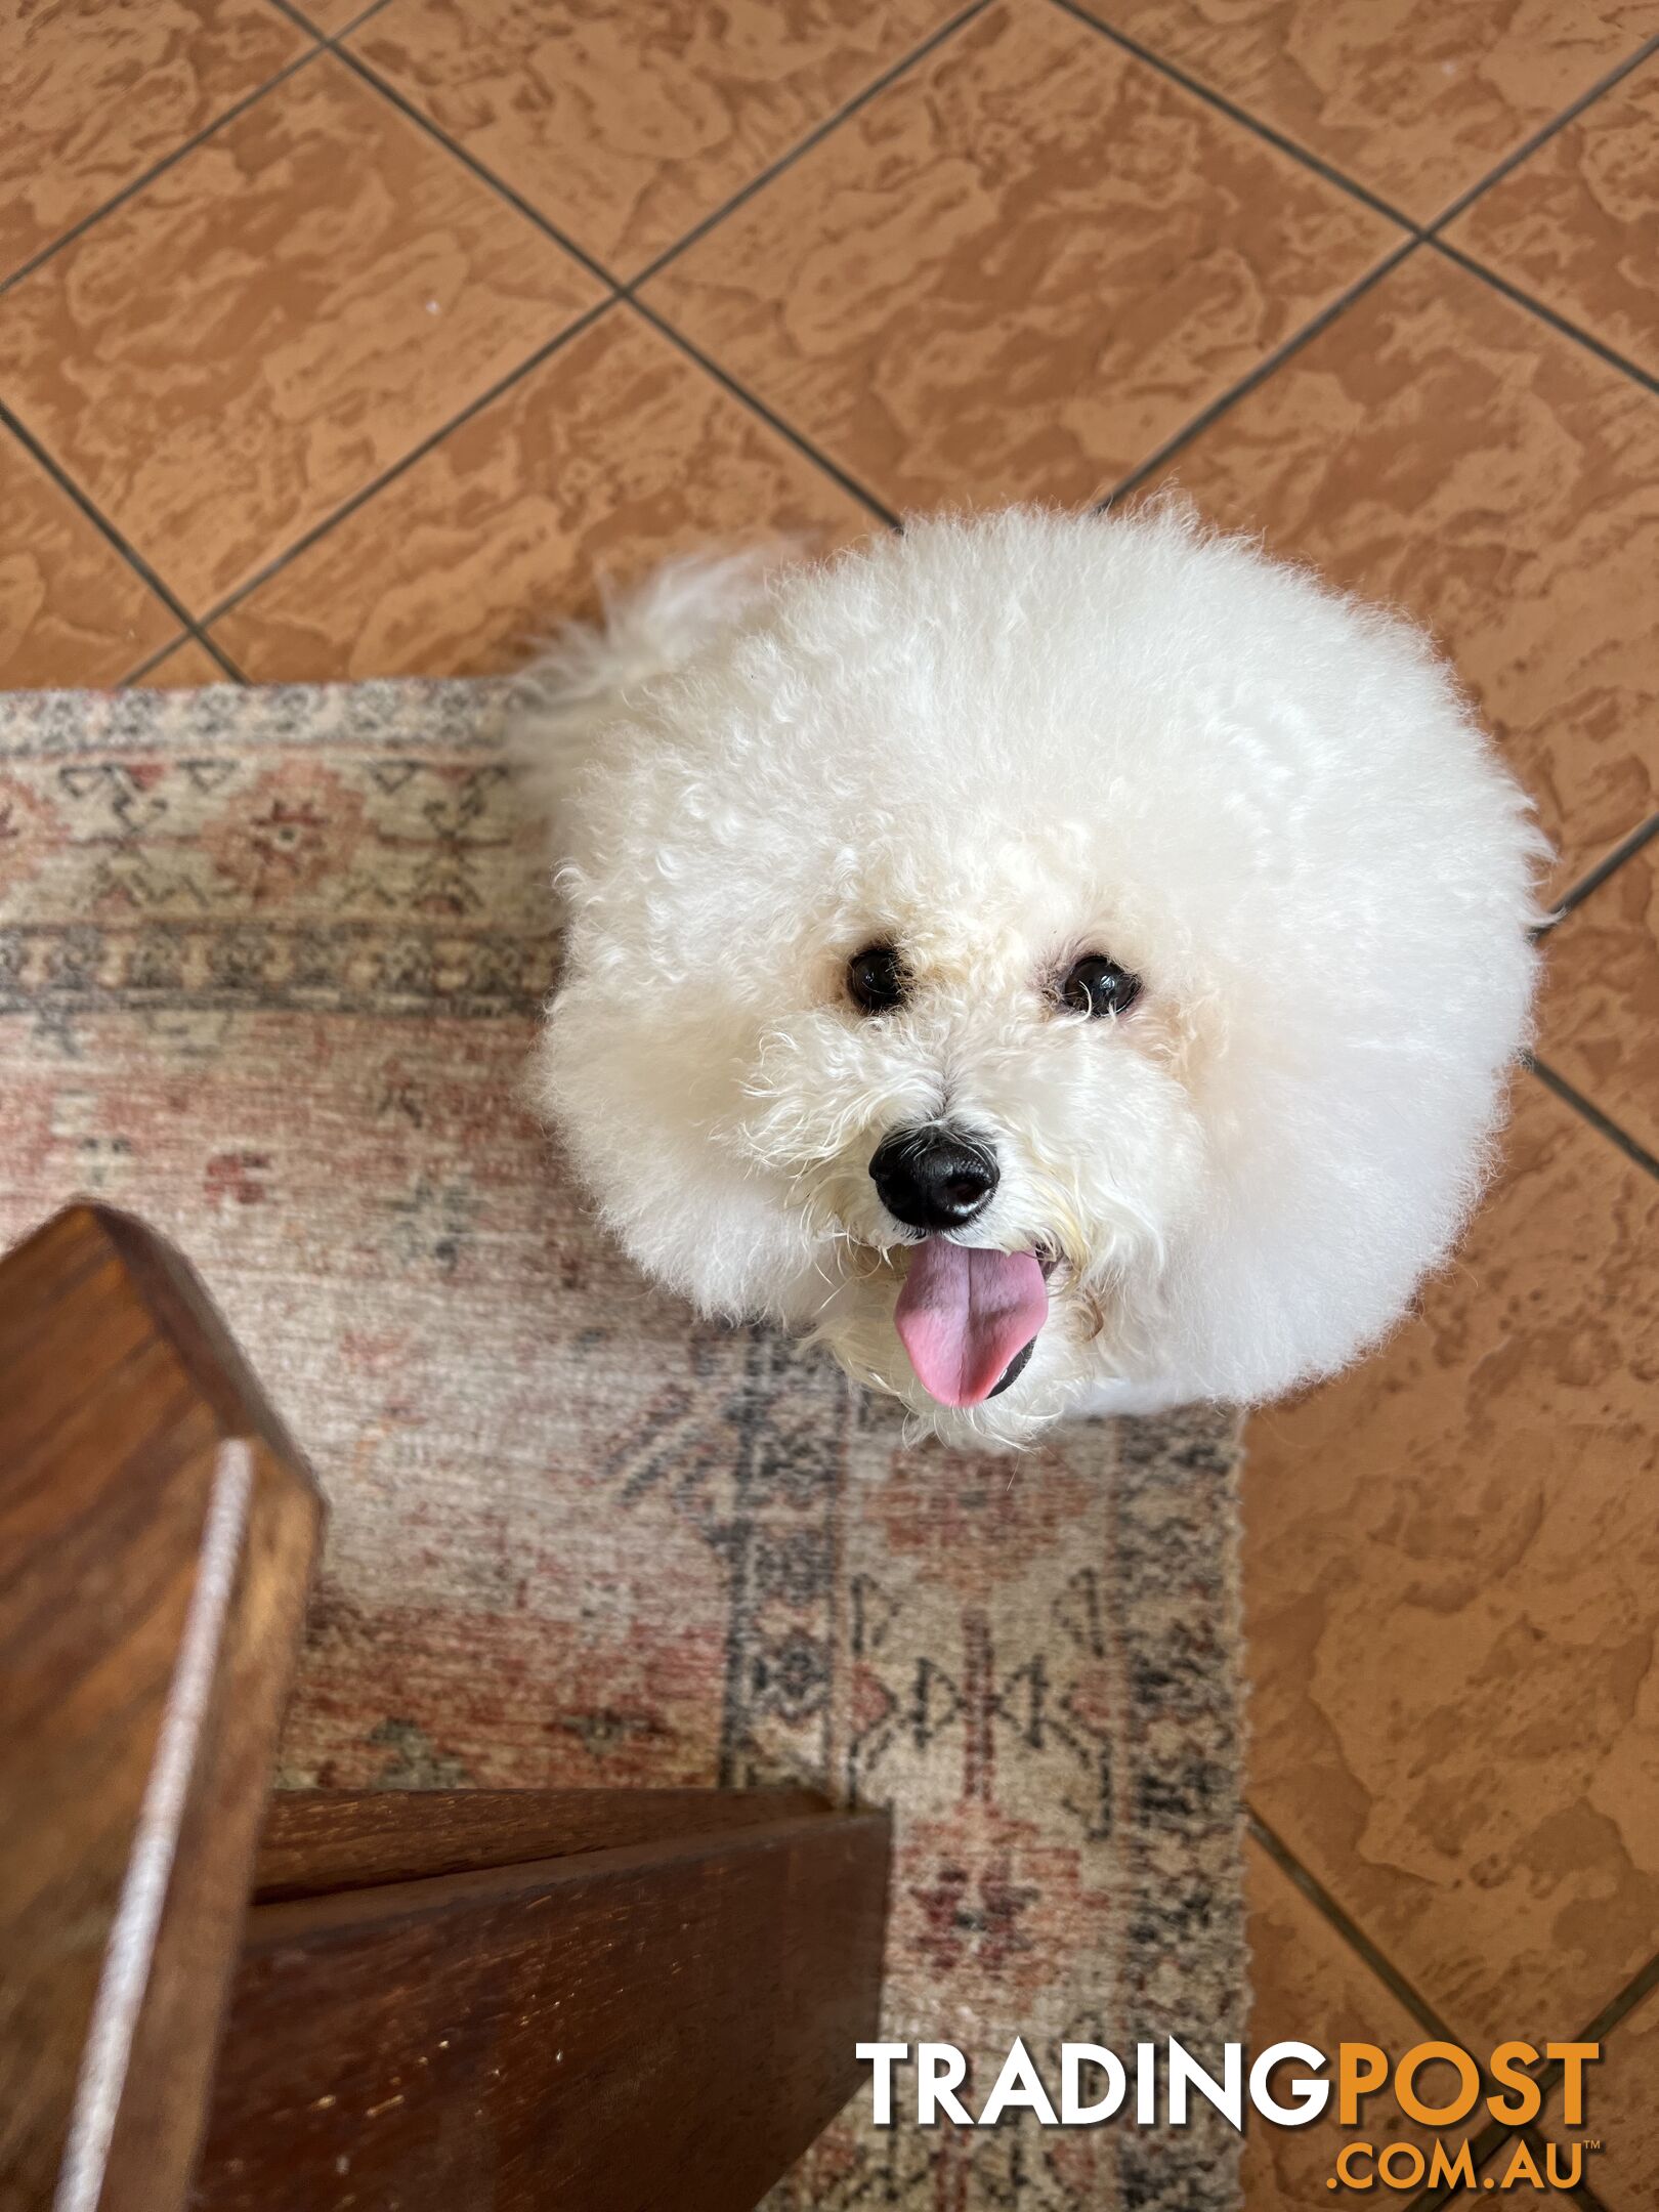
[[[206,2212],[750,2212],[856,2090],[883,1814],[801,1792],[480,1798],[276,1801]],[[502,1860],[524,1845],[557,1856]]]

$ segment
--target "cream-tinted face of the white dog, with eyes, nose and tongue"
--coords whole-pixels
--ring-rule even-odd
[[[1146,1349],[1201,1186],[1201,1042],[1064,821],[973,805],[856,885],[726,1135],[787,1190],[843,1365],[1020,1436]]]

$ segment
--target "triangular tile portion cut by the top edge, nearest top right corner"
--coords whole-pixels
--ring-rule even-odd
[[[1427,223],[1659,31],[1659,0],[1084,0]]]

